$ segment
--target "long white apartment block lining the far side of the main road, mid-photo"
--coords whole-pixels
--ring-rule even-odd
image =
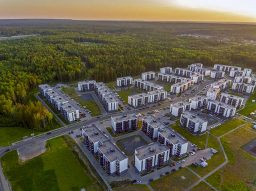
[[[134,108],[144,106],[146,104],[156,103],[158,101],[165,101],[167,92],[163,89],[154,90],[147,93],[129,95],[128,104]]]

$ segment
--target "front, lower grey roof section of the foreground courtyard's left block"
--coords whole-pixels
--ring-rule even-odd
[[[116,160],[124,160],[127,159],[126,155],[124,155],[116,145],[114,145],[110,140],[104,141],[102,146],[98,146],[98,148],[102,151],[102,153],[109,159],[110,162],[114,162]]]

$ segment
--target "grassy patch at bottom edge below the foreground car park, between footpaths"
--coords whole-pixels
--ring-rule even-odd
[[[183,180],[181,176],[186,179]],[[183,168],[174,173],[168,174],[163,178],[149,183],[154,190],[186,190],[195,183],[199,178],[195,176],[190,170]]]

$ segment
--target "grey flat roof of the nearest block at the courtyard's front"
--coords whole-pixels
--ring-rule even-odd
[[[137,152],[135,156],[139,160],[147,159],[159,153],[163,153],[170,150],[168,146],[161,145],[160,143],[151,143],[149,145],[144,145],[139,148],[136,148],[135,151]]]

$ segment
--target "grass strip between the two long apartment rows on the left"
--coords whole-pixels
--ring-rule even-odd
[[[102,115],[100,108],[95,101],[84,101],[84,99],[75,93],[75,89],[73,87],[62,88],[62,90],[66,94],[70,95],[70,97],[72,97],[77,103],[80,103],[82,106],[86,106],[86,108],[92,112],[92,117]]]

